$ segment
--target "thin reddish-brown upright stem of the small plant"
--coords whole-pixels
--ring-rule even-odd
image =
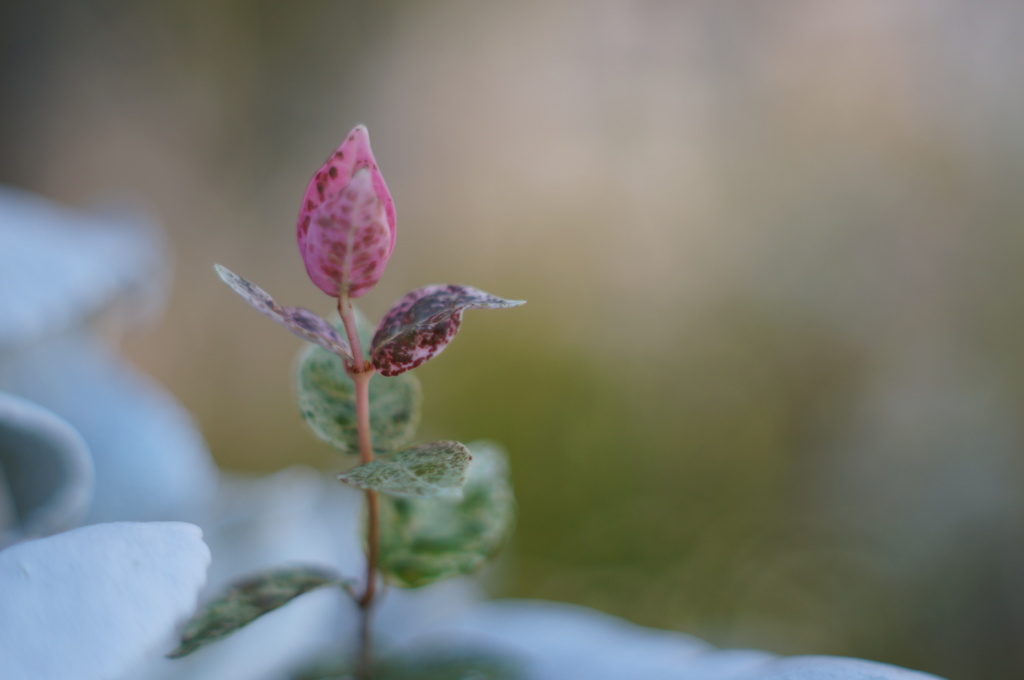
[[[348,377],[355,385],[355,427],[359,440],[359,463],[374,460],[373,438],[370,433],[370,379],[374,367],[364,358],[359,334],[355,329],[355,314],[352,301],[346,293],[338,296],[338,313],[345,326],[348,343],[352,349],[352,364],[346,367]],[[380,542],[380,509],[377,492],[367,491],[367,578],[366,590],[356,600],[359,605],[359,650],[356,677],[371,680],[373,677],[373,608],[377,594],[377,554]]]

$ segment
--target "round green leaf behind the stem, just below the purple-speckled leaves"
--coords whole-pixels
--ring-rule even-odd
[[[356,453],[355,385],[336,354],[309,346],[299,354],[299,410],[306,424],[334,448]],[[370,430],[374,451],[388,453],[407,443],[420,424],[423,394],[414,376],[370,380]]]

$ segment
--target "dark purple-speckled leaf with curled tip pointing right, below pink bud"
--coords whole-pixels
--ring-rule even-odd
[[[466,309],[501,309],[525,300],[503,300],[469,286],[426,286],[409,293],[384,314],[370,358],[384,376],[415,369],[438,354],[459,332]]]

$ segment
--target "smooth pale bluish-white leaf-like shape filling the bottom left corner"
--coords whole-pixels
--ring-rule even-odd
[[[210,553],[180,522],[97,524],[0,552],[0,678],[110,680],[167,651]]]

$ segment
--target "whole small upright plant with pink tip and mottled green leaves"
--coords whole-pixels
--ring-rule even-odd
[[[354,668],[366,679],[373,675],[371,622],[380,578],[419,588],[469,573],[504,544],[514,518],[498,448],[458,441],[407,448],[422,400],[409,371],[447,346],[466,309],[523,301],[468,286],[426,286],[400,298],[376,330],[368,325],[352,300],[384,272],[394,250],[395,212],[361,125],[310,180],[297,238],[309,279],[337,298],[337,320],[281,306],[255,284],[219,264],[216,270],[249,304],[312,343],[299,358],[299,408],[321,438],[358,456],[358,465],[338,478],[366,495],[366,575],[355,580],[293,564],[253,575],[202,607],[170,655],[189,654],[303,593],[337,587],[359,611]]]

